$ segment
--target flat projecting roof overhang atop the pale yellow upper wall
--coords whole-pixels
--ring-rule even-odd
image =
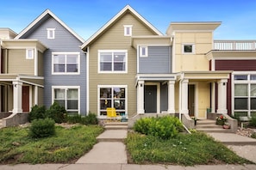
[[[166,34],[172,35],[174,32],[189,32],[189,31],[213,32],[221,24],[222,24],[221,21],[172,22],[167,28]]]

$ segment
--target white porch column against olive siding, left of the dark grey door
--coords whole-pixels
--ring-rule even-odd
[[[137,114],[145,113],[144,110],[144,81],[138,81],[137,85]]]

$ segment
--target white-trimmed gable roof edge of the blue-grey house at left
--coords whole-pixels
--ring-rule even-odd
[[[68,27],[66,25],[66,23],[64,23],[63,21],[61,21],[59,19],[59,17],[57,17],[56,15],[53,14],[53,12],[50,9],[46,9],[41,15],[39,15],[34,21],[32,21],[28,27],[25,27],[21,33],[19,33],[15,39],[20,39],[25,33],[28,33],[28,31],[36,26],[37,24],[39,24],[41,21],[44,21],[45,18],[47,18],[47,15],[50,15],[53,17],[54,20],[58,21],[60,25],[62,25],[63,27],[65,27],[70,33],[72,33],[72,35],[74,35],[78,40],[80,40],[82,43],[84,43],[84,39],[82,37],[80,37],[78,35],[78,33],[75,33],[72,28]]]

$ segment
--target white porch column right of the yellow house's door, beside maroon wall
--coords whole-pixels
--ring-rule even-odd
[[[218,82],[218,113],[228,113],[227,109],[227,82],[228,79],[222,79]]]

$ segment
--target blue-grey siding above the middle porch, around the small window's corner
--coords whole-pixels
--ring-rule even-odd
[[[171,73],[170,46],[148,46],[148,57],[139,57],[139,73]]]

